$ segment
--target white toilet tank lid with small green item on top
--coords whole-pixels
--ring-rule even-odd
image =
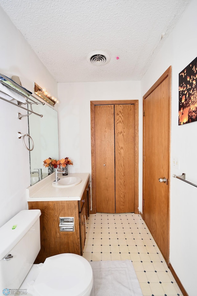
[[[40,210],[23,210],[0,228],[0,260],[9,254],[40,215]]]

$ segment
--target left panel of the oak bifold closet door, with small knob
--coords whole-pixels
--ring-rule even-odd
[[[95,106],[96,212],[115,213],[114,105]]]

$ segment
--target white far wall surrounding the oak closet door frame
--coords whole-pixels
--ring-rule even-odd
[[[73,160],[69,172],[91,174],[90,101],[140,100],[140,97],[140,81],[58,83],[60,157],[68,156]],[[142,114],[141,101],[139,114]],[[141,150],[142,118],[139,122],[139,146]],[[139,162],[141,200],[142,158]]]

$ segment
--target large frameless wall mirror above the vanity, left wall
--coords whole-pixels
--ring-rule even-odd
[[[46,158],[59,159],[58,147],[58,112],[48,105],[33,105],[33,111],[43,117],[31,114],[29,120],[29,134],[34,141],[34,149],[30,151],[31,185],[39,179],[48,176],[48,168],[43,167]],[[42,169],[42,176],[35,173]]]

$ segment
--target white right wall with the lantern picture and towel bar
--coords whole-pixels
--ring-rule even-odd
[[[197,56],[196,10],[193,0],[141,80],[143,96],[172,65],[170,262],[189,296],[196,295],[197,188],[172,175],[186,173],[186,179],[197,184],[197,122],[178,125],[179,72]],[[173,158],[179,158],[179,169],[173,166]]]

